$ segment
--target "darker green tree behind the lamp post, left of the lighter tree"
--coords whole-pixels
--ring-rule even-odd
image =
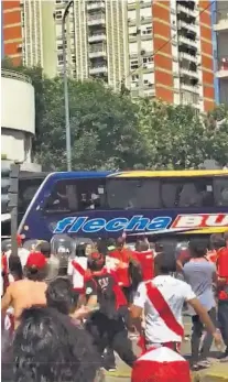
[[[69,79],[73,168],[132,167],[140,159],[137,106],[100,81]],[[44,109],[36,157],[47,168],[66,167],[62,78],[44,79]]]

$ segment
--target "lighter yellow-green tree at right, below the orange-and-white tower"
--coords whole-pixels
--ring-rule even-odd
[[[227,163],[227,111],[221,109],[203,118],[192,106],[140,100],[138,119],[148,166],[197,168],[207,159],[220,165]],[[218,123],[216,118],[221,116],[224,119]]]

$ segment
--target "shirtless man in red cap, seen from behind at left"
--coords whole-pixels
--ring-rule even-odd
[[[1,301],[3,314],[12,307],[14,329],[20,325],[20,317],[25,308],[34,305],[46,305],[45,292],[47,284],[43,281],[46,275],[46,259],[41,252],[30,253],[25,265],[25,279],[10,284]]]

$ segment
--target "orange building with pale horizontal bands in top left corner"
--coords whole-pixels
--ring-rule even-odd
[[[22,29],[20,0],[2,0],[2,53],[14,65],[22,62]]]

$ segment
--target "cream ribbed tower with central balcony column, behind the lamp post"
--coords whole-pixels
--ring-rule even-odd
[[[57,73],[63,72],[62,18],[65,2],[56,0]],[[74,1],[66,19],[67,67],[77,79],[101,78],[118,89],[128,70],[127,2]]]

